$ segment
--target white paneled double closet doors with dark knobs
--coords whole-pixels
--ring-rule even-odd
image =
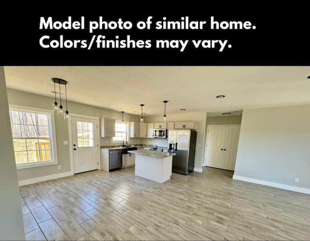
[[[234,170],[240,125],[208,125],[204,166]]]

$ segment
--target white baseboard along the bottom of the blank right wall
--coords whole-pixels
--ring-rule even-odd
[[[253,178],[236,176],[236,175],[233,175],[233,179],[239,180],[239,181],[252,182],[255,184],[261,184],[261,185],[269,186],[269,187],[281,188],[284,190],[289,190],[289,191],[293,191],[293,192],[297,192],[297,193],[310,194],[310,189],[303,188],[303,187],[295,187],[295,186],[285,185],[285,184],[281,184],[281,183],[277,183],[277,182],[263,181],[263,180],[253,179]]]

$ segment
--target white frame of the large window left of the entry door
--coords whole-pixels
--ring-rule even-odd
[[[55,127],[55,115],[53,110],[49,109],[41,109],[41,108],[35,108],[35,107],[29,107],[29,106],[22,106],[22,105],[11,105],[9,104],[9,111],[15,110],[15,111],[21,111],[21,112],[28,112],[28,113],[36,113],[36,114],[47,114],[48,115],[48,124],[49,124],[49,139],[50,139],[50,161],[40,161],[34,162],[34,163],[23,163],[23,164],[17,164],[16,163],[16,169],[26,169],[26,168],[33,168],[33,167],[39,167],[39,166],[50,166],[50,165],[57,165],[58,164],[58,158],[57,158],[57,143],[56,143],[56,127]],[[10,120],[11,123],[11,120]],[[12,123],[11,123],[12,125]],[[12,130],[11,130],[12,133]],[[12,134],[12,138],[13,134]],[[25,137],[26,139],[27,137]],[[20,138],[18,138],[20,139]],[[45,138],[46,139],[46,138]],[[15,154],[15,151],[14,151]]]

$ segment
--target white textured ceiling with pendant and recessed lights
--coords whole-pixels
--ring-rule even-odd
[[[310,66],[4,66],[4,72],[10,89],[54,97],[51,79],[62,78],[68,101],[137,115],[140,104],[147,115],[163,115],[164,100],[167,116],[181,108],[218,116],[310,104]]]

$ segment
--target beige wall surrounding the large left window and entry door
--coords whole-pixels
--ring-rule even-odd
[[[7,89],[8,101],[12,105],[31,106],[42,109],[51,109],[55,99],[41,95],[31,94],[18,90]],[[70,113],[92,116],[92,117],[106,117],[117,120],[122,120],[122,113],[108,109],[98,108],[90,105],[83,105],[79,103],[68,102],[68,111]],[[139,121],[140,117],[136,115],[129,115],[124,113],[125,121]],[[18,181],[39,178],[49,175],[70,172],[70,145],[63,145],[64,140],[69,140],[68,120],[63,120],[63,116],[55,115],[56,125],[56,141],[57,141],[57,156],[58,165],[62,166],[58,170],[58,165],[40,166],[27,169],[17,170]],[[100,145],[116,145],[111,142],[112,137],[101,137]],[[108,141],[108,143],[107,143]],[[140,138],[131,138],[130,144],[141,143]]]

